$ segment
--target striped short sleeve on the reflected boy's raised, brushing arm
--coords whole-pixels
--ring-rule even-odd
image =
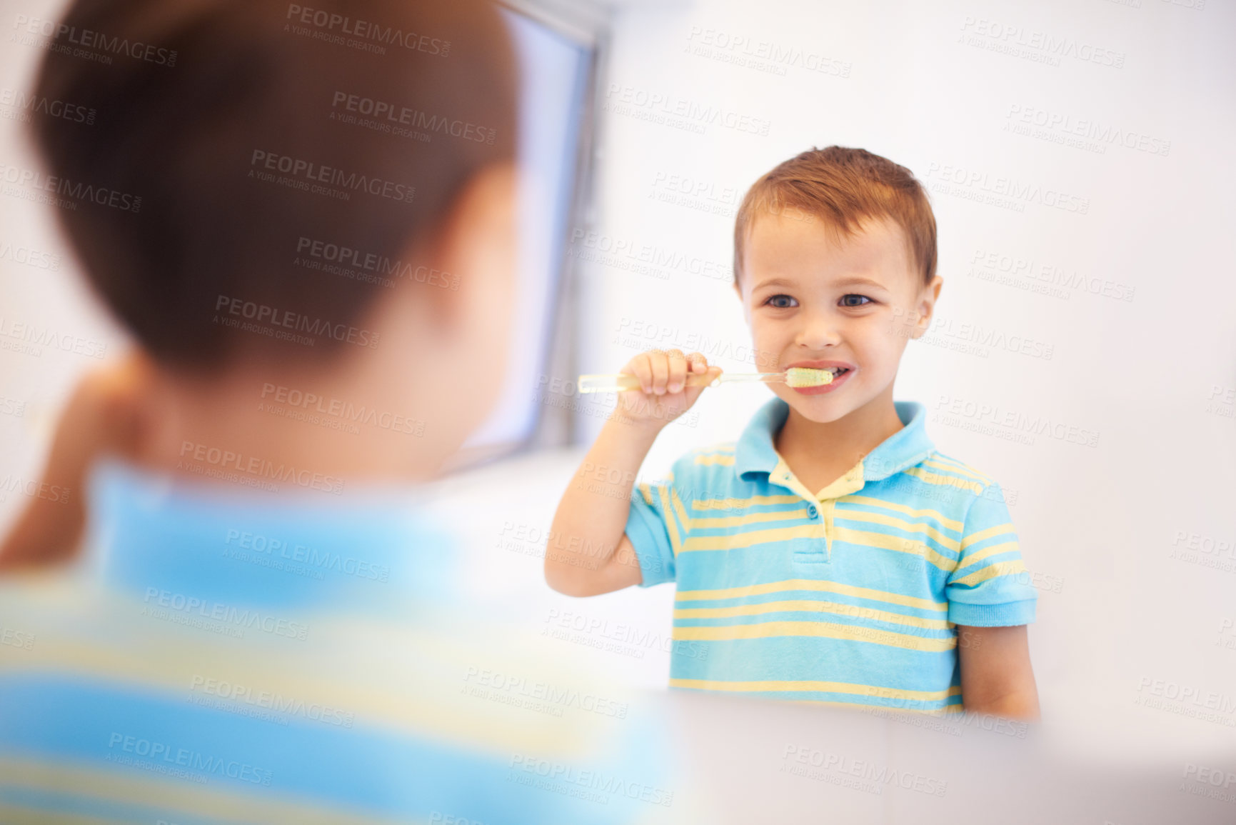
[[[662,581],[674,581],[674,559],[686,538],[687,515],[675,482],[676,474],[690,466],[684,456],[674,463],[674,470],[661,481],[637,484],[630,494],[627,513],[627,538],[635,548],[639,570],[644,580],[641,588]]]

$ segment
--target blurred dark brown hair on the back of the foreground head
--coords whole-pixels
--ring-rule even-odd
[[[391,262],[461,187],[513,160],[515,66],[496,6],[311,6],[77,0],[42,62],[37,96],[95,110],[93,124],[35,121],[48,186],[127,195],[57,212],[95,289],[159,362],[340,351],[335,334],[297,346],[234,330],[216,323],[219,302],[356,327],[391,289],[298,256],[355,250],[345,267],[398,282]],[[130,46],[87,59],[73,46],[84,32]]]

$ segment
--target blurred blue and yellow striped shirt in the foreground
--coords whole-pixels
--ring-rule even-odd
[[[226,486],[108,463],[96,569],[0,580],[0,821],[682,821],[664,721],[452,596],[415,491]]]

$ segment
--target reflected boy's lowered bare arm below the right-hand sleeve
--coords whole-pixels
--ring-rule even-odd
[[[1038,720],[1026,625],[957,626],[962,704],[969,714]]]

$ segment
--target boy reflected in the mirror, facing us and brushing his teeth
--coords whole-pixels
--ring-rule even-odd
[[[721,374],[698,353],[637,355],[623,372],[641,391],[619,393],[585,459],[604,472],[559,505],[552,529],[580,541],[546,554],[549,584],[585,596],[675,581],[671,686],[1037,719],[1036,594],[1000,486],[933,448],[921,403],[892,400],[941,284],[934,216],[908,169],[831,146],[761,177],[734,228],[760,370],[833,381],[769,385],[776,397],[737,443],[692,450],[632,492],[613,480],[634,479],[700,397],[685,377]]]

